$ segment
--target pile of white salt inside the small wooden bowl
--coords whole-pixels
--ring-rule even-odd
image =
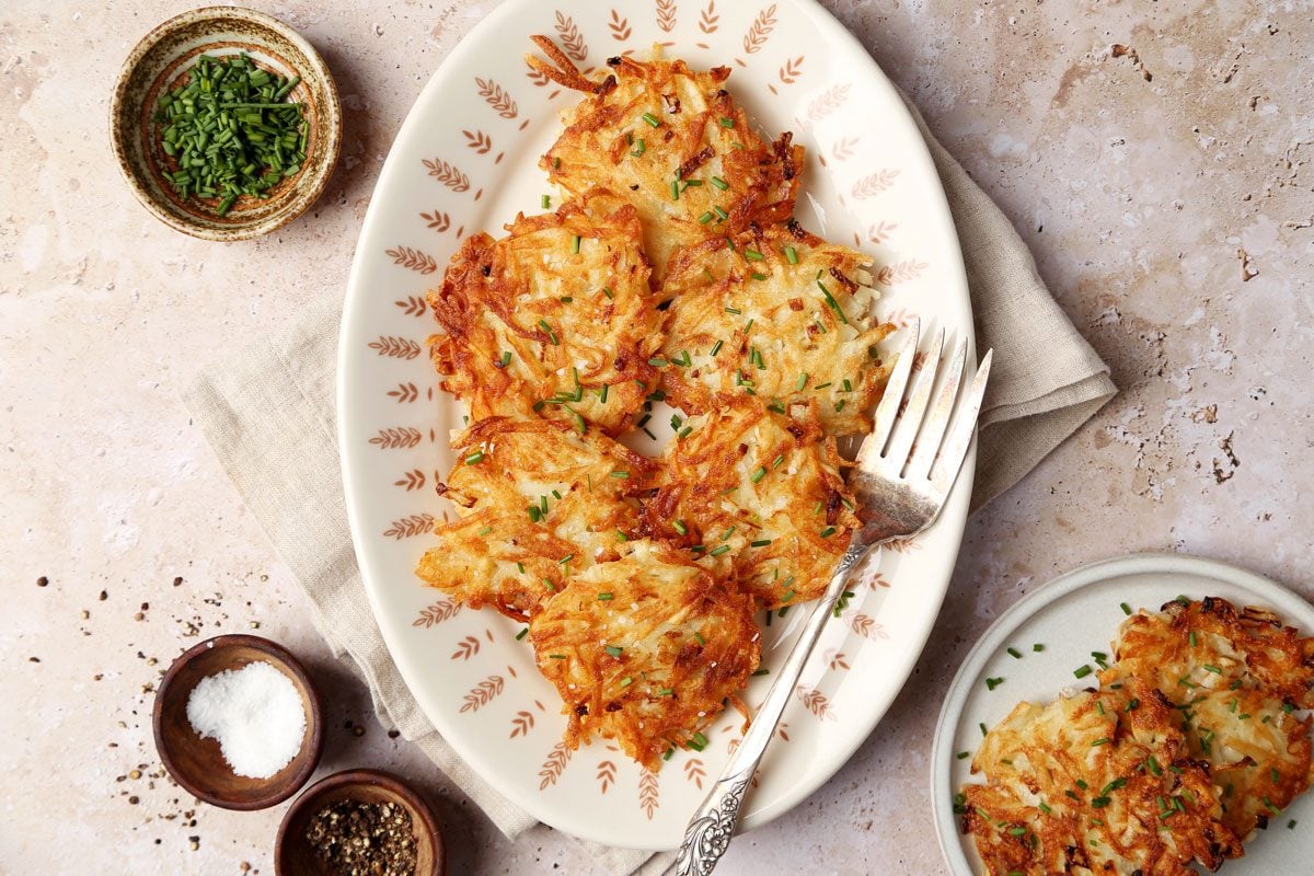
[[[219,742],[233,772],[268,779],[292,763],[306,735],[306,712],[292,679],[256,661],[208,675],[187,697],[187,720]]]

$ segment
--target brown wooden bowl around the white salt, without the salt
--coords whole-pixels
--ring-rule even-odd
[[[306,735],[292,762],[268,779],[233,772],[217,739],[202,739],[187,720],[187,700],[202,678],[264,661],[286,675],[301,695]],[[217,636],[187,650],[164,672],[152,711],[155,747],[170,775],[189,793],[223,809],[265,809],[297,793],[319,763],[323,721],[319,693],[288,650],[259,636]]]

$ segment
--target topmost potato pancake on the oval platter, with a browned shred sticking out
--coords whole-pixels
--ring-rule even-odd
[[[618,55],[589,79],[552,41],[535,42],[556,67],[531,55],[532,67],[589,95],[540,167],[573,196],[604,188],[633,204],[658,280],[681,247],[794,214],[803,150],[788,133],[758,137],[725,91],[728,67]]]

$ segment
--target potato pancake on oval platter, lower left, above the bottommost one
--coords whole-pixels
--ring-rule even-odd
[[[572,571],[615,559],[618,531],[637,529],[633,495],[653,464],[598,432],[566,423],[490,418],[452,441],[456,466],[439,493],[460,519],[417,574],[459,602],[526,619]]]

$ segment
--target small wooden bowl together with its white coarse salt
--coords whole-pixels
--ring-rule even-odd
[[[225,809],[294,795],[323,750],[319,693],[285,647],[217,636],[173,661],[155,692],[155,747],[170,775]]]

